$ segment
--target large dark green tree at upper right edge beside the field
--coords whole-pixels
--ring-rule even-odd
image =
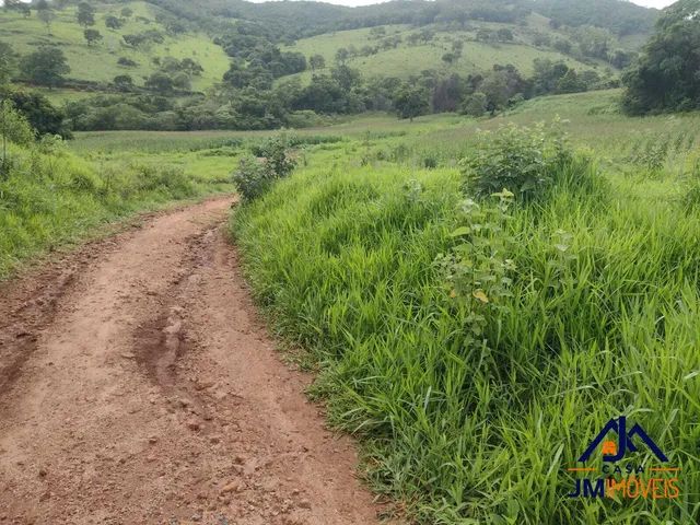
[[[700,0],[680,0],[665,10],[623,82],[630,114],[700,108]]]

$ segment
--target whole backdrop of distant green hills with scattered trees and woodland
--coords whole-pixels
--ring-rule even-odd
[[[38,67],[10,65],[5,77],[63,106],[73,130],[271,129],[365,110],[497,113],[533,96],[619,85],[657,18],[622,0],[397,0],[352,9],[18,2],[0,10],[0,43],[20,62],[54,49],[31,57]],[[94,10],[94,20],[79,23],[81,9]],[[59,62],[56,48],[69,72],[47,79],[40,61]]]

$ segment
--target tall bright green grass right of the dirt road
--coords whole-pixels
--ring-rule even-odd
[[[511,298],[475,311],[436,264],[460,243],[459,173],[362,164],[318,153],[231,228],[373,487],[421,523],[697,523],[700,218],[639,180],[560,185],[511,210]],[[567,468],[620,415],[682,468],[678,500],[568,498]]]

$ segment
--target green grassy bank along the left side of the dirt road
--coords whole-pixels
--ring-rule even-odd
[[[0,175],[0,279],[106,222],[232,189],[228,176],[190,174],[168,159],[89,162],[47,140],[27,148],[11,144],[9,161],[8,176]]]

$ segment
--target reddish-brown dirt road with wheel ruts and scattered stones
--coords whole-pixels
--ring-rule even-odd
[[[377,523],[256,319],[230,205],[0,285],[0,524]]]

